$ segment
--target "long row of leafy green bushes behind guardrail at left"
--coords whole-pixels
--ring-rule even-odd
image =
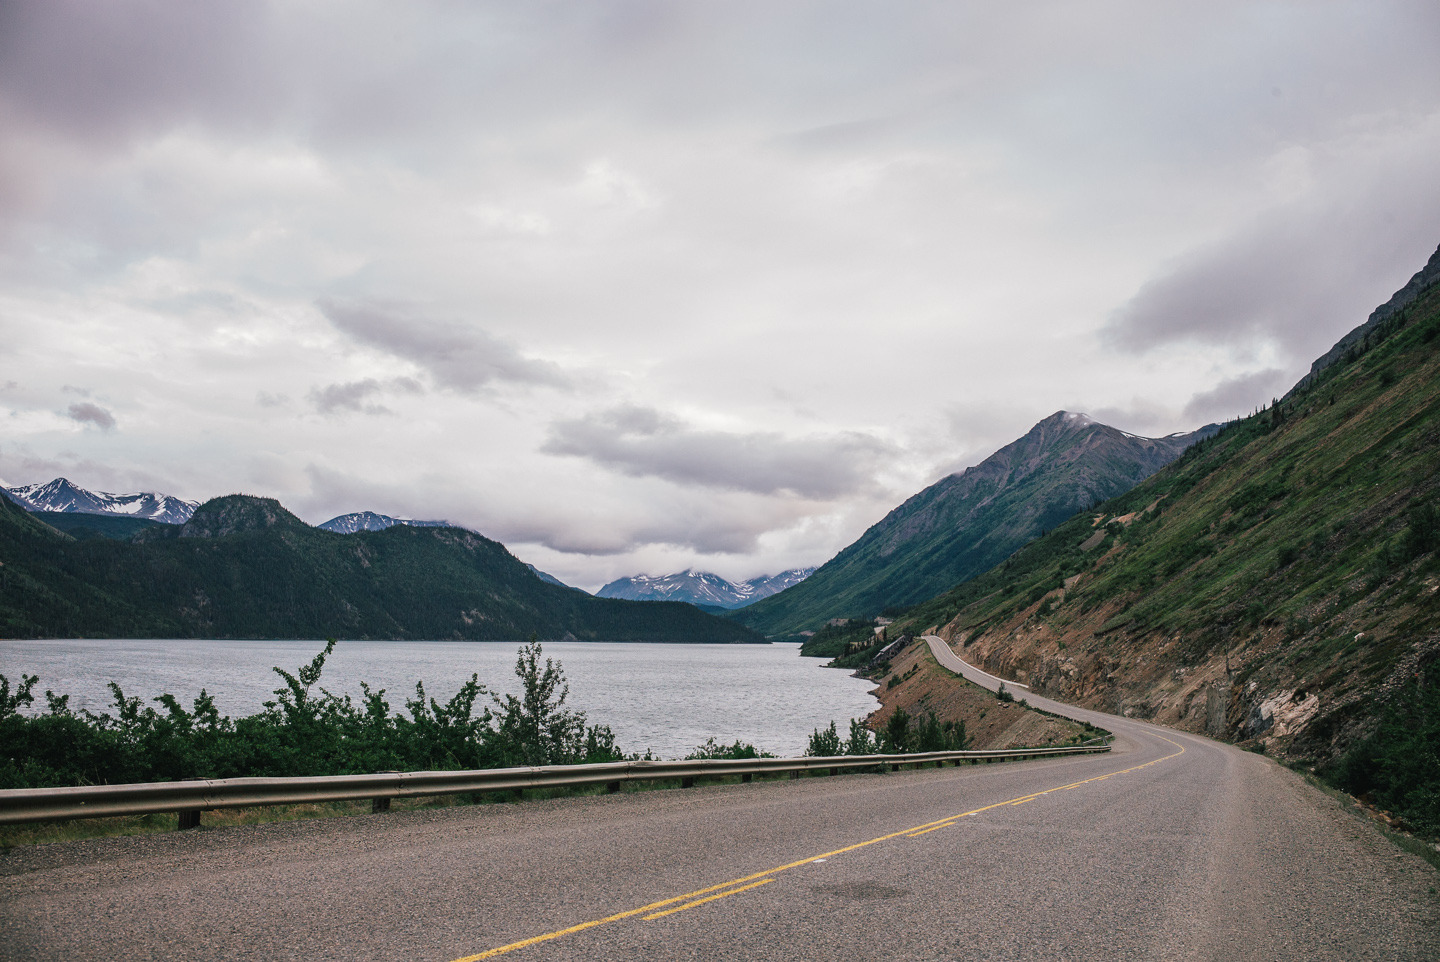
[[[357,775],[386,770],[456,770],[618,762],[608,726],[588,724],[564,707],[564,671],[531,639],[516,660],[518,696],[498,696],[477,675],[439,701],[416,684],[405,711],[392,711],[384,690],[361,685],[359,701],[320,687],[334,641],[284,684],[265,710],[222,716],[204,690],[184,707],[163,694],[157,707],[111,683],[109,711],[72,710],[69,696],[45,693],[35,703],[35,675],[12,688],[0,675],[0,788],[55,788],[168,782],[193,778]]]

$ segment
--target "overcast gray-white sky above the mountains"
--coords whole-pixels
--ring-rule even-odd
[[[818,565],[1282,395],[1440,243],[1440,4],[0,0],[0,480]]]

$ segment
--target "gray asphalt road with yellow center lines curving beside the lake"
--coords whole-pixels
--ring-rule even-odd
[[[1293,773],[1070,713],[1115,752],[13,850],[0,958],[1440,959]]]

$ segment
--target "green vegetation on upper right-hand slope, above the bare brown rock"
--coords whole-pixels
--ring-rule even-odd
[[[1106,631],[1184,632],[1198,660],[1220,644],[1221,628],[1234,635],[1280,622],[1300,635],[1362,595],[1414,601],[1424,576],[1440,570],[1431,504],[1440,464],[1437,301],[1431,294],[1413,305],[1421,317],[1401,328],[1404,313],[1369,353],[1227,425],[1129,494],[910,609],[906,622],[962,616],[965,629],[979,631],[1081,575],[1045,615],[1064,621],[1125,599]],[[1346,431],[1358,418],[1365,429]],[[1172,510],[1176,503],[1184,510]],[[1336,639],[1312,645],[1333,648]]]

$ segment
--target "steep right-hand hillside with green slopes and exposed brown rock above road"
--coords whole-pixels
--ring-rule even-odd
[[[903,621],[1044,694],[1333,759],[1440,685],[1437,497],[1440,284]]]

